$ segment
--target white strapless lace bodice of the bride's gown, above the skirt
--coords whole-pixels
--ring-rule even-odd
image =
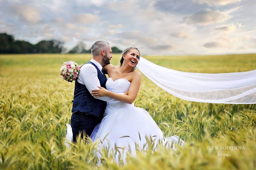
[[[124,93],[125,91],[129,90],[131,83],[124,79],[124,78],[119,78],[115,81],[110,77],[108,78],[106,82],[106,89],[115,93]],[[123,102],[118,102],[118,103],[107,103],[107,107],[104,113],[104,117],[109,114],[115,114],[115,113],[120,113],[123,109],[129,109],[131,107],[134,107],[134,104],[129,104],[129,103],[123,103]]]

